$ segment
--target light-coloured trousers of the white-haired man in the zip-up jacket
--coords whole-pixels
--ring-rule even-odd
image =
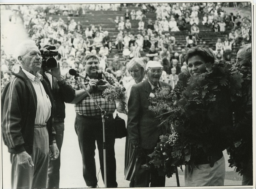
[[[49,163],[49,136],[46,127],[35,127],[33,152],[34,167],[25,169],[12,154],[12,188],[46,188]]]

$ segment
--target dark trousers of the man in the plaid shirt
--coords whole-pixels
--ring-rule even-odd
[[[116,159],[115,159],[115,137],[114,137],[113,116],[105,119],[105,142],[106,142],[106,171],[107,187],[117,187],[116,182]],[[75,130],[78,136],[78,143],[83,159],[83,176],[87,186],[97,184],[95,166],[95,141],[97,142],[101,175],[104,181],[104,162],[103,162],[103,126],[102,119],[90,118],[77,114]]]

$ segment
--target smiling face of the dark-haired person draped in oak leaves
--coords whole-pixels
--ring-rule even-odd
[[[199,55],[194,55],[189,58],[187,65],[190,76],[198,75],[206,71],[206,62]]]

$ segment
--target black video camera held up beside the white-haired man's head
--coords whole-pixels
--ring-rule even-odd
[[[58,51],[55,51],[56,47],[55,46],[45,46],[41,47],[40,44],[36,44],[41,56],[42,56],[42,66],[46,67],[49,70],[54,69],[57,67],[57,61],[54,58],[54,56],[58,55]]]

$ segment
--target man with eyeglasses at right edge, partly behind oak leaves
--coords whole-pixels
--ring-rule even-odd
[[[252,185],[252,44],[240,46],[235,61],[243,74],[242,96],[234,103],[234,145],[227,151],[229,163],[243,176],[242,185]]]

